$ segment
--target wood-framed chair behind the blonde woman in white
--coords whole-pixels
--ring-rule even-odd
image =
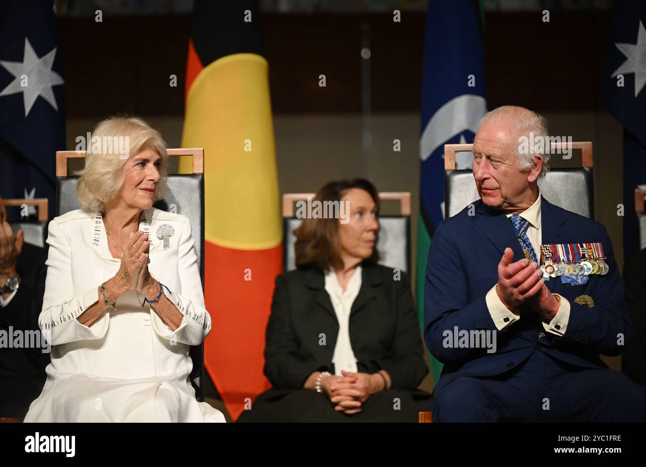
[[[169,157],[191,156],[193,173],[169,174],[164,197],[154,207],[186,215],[191,220],[202,288],[204,288],[204,149],[167,149]],[[81,209],[76,194],[79,177],[68,176],[67,163],[72,158],[85,158],[85,151],[56,151],[56,197],[58,215]],[[189,378],[196,398],[203,400],[204,346],[195,345],[190,350],[193,371]]]

